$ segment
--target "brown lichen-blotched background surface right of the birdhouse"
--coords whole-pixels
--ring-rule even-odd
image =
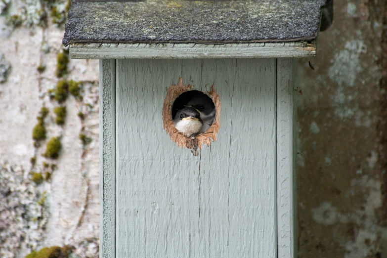
[[[295,88],[299,257],[386,258],[387,3],[334,4]]]

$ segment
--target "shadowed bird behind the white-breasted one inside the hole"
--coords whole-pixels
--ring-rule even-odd
[[[215,104],[213,100],[206,94],[195,94],[190,98],[185,107],[192,107],[200,114],[203,126],[199,133],[206,132],[215,120]]]

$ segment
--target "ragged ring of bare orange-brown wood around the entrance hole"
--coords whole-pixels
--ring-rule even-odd
[[[163,124],[164,129],[170,135],[171,140],[177,143],[179,147],[185,147],[189,149],[202,148],[203,144],[211,145],[211,139],[216,140],[216,133],[220,128],[220,98],[219,94],[214,89],[214,84],[208,95],[212,98],[215,104],[215,121],[212,126],[204,133],[197,134],[194,138],[186,137],[181,134],[173,125],[172,121],[172,105],[174,100],[183,92],[192,88],[192,85],[183,86],[183,78],[179,78],[177,85],[172,84],[168,88],[167,96],[163,105]]]

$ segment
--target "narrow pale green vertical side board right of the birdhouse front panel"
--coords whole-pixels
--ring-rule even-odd
[[[277,220],[278,257],[297,257],[296,172],[293,130],[296,124],[293,102],[294,59],[277,62]]]

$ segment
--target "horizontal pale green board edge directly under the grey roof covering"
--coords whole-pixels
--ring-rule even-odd
[[[316,43],[74,43],[70,44],[73,59],[132,58],[257,58],[310,57],[316,54]]]

